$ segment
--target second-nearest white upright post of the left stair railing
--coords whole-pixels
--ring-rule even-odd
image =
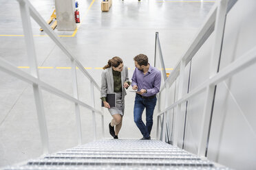
[[[74,60],[71,60],[71,62],[72,62],[73,96],[74,98],[79,99],[78,87],[77,87],[77,75],[76,75],[76,62]],[[75,112],[76,112],[76,130],[78,134],[78,145],[82,145],[80,108],[77,103],[75,103]]]

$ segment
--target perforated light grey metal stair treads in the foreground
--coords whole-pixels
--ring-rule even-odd
[[[9,169],[227,169],[162,141],[105,139]]]

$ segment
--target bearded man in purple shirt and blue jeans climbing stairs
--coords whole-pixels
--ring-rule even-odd
[[[160,90],[161,73],[149,64],[146,55],[139,54],[134,58],[136,69],[132,76],[131,86],[136,92],[134,102],[134,122],[143,135],[142,140],[150,140],[153,125],[153,110],[156,106],[156,94]],[[142,121],[142,112],[146,108],[146,125]]]

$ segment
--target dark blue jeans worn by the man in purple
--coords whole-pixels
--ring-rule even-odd
[[[138,126],[141,134],[145,138],[149,138],[153,125],[153,110],[156,106],[156,97],[151,99],[143,99],[136,94],[134,102],[134,122]],[[142,112],[146,108],[146,125],[142,121]]]

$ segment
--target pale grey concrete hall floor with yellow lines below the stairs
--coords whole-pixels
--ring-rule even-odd
[[[100,1],[78,1],[81,25],[74,37],[60,37],[66,47],[81,61],[83,66],[100,85],[102,70],[95,69],[107,64],[113,56],[120,56],[129,68],[131,78],[138,53],[145,53],[153,64],[155,33],[159,32],[166,68],[173,68],[190,45],[191,40],[206,19],[214,1],[156,1],[114,0],[109,12],[101,12]],[[31,1],[45,21],[54,9],[52,0]],[[89,5],[92,3],[92,7]],[[14,66],[28,66],[25,41],[17,1],[0,0],[0,57]],[[36,57],[41,80],[72,95],[70,60],[54,45],[39,25],[32,21]],[[58,32],[72,35],[73,32]],[[17,36],[18,35],[18,36]],[[21,69],[29,72],[30,69]],[[170,72],[170,71],[167,71]],[[38,157],[41,139],[32,86],[0,72],[0,167]],[[89,82],[78,71],[79,97],[88,104]],[[99,93],[95,95],[100,109]],[[58,151],[77,145],[74,104],[43,91],[45,114],[50,140],[50,151]],[[134,93],[126,97],[125,117],[120,138],[141,138],[133,121]],[[155,112],[156,114],[156,112]],[[145,117],[143,115],[143,117]],[[100,117],[97,116],[97,138],[102,138]],[[109,138],[107,124],[111,117],[105,110],[105,137]],[[92,113],[81,108],[83,143],[93,140]],[[151,136],[156,137],[156,117]]]

